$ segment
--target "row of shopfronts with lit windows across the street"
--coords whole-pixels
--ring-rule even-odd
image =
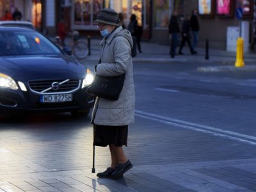
[[[173,10],[179,12],[181,28],[184,17],[196,8],[200,23],[198,46],[204,46],[208,39],[211,48],[226,49],[228,29],[241,23],[246,46],[256,39],[256,0],[0,0],[0,17],[5,10],[13,13],[15,7],[22,12],[22,20],[30,20],[47,35],[55,35],[58,22],[64,19],[67,31],[99,36],[93,20],[102,8],[113,8],[124,15],[125,26],[132,14],[137,16],[143,40],[170,44],[168,23]],[[243,8],[241,21],[236,17],[237,7]]]

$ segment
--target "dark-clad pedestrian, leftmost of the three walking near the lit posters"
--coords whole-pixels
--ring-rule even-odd
[[[173,15],[170,18],[169,22],[169,33],[172,35],[172,41],[171,41],[171,46],[170,46],[170,55],[172,58],[176,54],[176,47],[178,45],[178,35],[180,33],[180,28],[179,28],[179,23],[178,23],[178,12],[174,11]]]

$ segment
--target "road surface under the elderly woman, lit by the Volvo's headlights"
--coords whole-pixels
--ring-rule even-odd
[[[0,191],[7,191],[4,184],[21,191],[28,191],[27,188],[119,191],[121,187],[127,191],[170,191],[175,187],[179,188],[177,191],[256,190],[256,166],[249,162],[256,158],[255,72],[196,71],[201,65],[134,63],[136,122],[129,127],[125,148],[134,169],[123,181],[95,180],[95,174],[90,173],[93,135],[90,116],[80,119],[72,118],[69,113],[1,116]],[[96,170],[104,170],[109,162],[108,148],[97,147]],[[211,166],[208,171],[214,172],[216,167],[227,170],[231,167],[230,175],[234,175],[241,172],[234,168],[237,162],[251,163],[243,167],[248,174],[242,178],[251,182],[231,182],[228,174],[224,178],[203,169]],[[187,166],[196,165],[193,173],[196,170],[228,184],[216,180],[198,184],[199,176],[185,178],[180,177],[180,171],[166,172],[180,163],[187,163],[182,165],[182,170],[187,169],[186,174]],[[152,176],[148,177],[149,173]],[[252,174],[255,178],[248,179]],[[76,182],[70,181],[71,178]],[[153,178],[162,188],[148,184]],[[67,186],[52,185],[54,179]],[[33,184],[39,180],[44,184]],[[168,184],[164,185],[163,180],[168,180]]]

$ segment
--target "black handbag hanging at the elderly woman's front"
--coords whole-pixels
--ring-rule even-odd
[[[108,100],[118,100],[124,86],[125,74],[122,76],[95,76],[87,92]]]

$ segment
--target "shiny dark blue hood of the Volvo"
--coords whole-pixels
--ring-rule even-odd
[[[0,72],[13,78],[83,78],[86,67],[71,58],[55,56],[13,56],[0,58]]]

